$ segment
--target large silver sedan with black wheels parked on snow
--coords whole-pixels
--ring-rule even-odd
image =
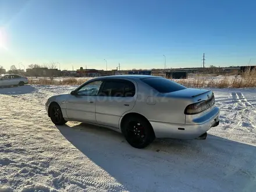
[[[98,77],[70,94],[54,95],[45,104],[55,125],[78,121],[123,133],[144,148],[155,138],[205,139],[219,125],[219,108],[211,90],[187,88],[164,77]]]

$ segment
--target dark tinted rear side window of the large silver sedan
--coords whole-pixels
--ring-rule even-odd
[[[99,96],[106,97],[133,97],[135,86],[127,80],[108,80],[105,81]]]

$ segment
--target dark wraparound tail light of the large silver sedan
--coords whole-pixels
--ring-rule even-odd
[[[214,95],[207,101],[200,101],[194,104],[190,104],[186,107],[184,113],[186,115],[195,115],[209,109],[215,103]]]

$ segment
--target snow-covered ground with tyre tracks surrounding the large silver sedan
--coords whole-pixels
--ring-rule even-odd
[[[255,191],[256,91],[214,89],[221,124],[206,140],[156,140],[54,126],[44,104],[74,87],[0,89],[0,191]]]

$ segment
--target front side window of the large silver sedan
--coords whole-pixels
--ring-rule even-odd
[[[83,96],[96,96],[99,91],[99,87],[101,87],[102,81],[93,81],[89,84],[86,84],[83,87],[80,87],[79,90],[76,91],[77,95]]]

